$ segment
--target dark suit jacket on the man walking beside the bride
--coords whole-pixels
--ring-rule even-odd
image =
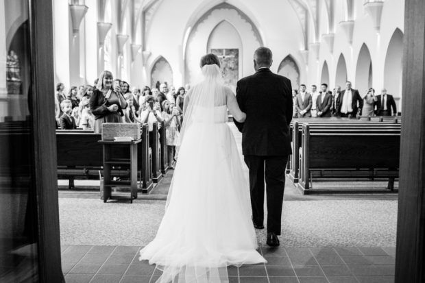
[[[234,121],[242,132],[243,155],[291,154],[291,81],[269,69],[259,69],[254,75],[237,82],[236,99],[241,110],[247,114],[245,123]]]

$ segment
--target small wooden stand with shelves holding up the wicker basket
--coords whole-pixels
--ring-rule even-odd
[[[99,140],[104,146],[104,202],[108,199],[133,199],[137,198],[137,144],[142,140],[132,140],[130,142],[115,142],[113,140]],[[130,147],[129,158],[114,158],[114,148]],[[130,181],[111,180],[111,170],[113,165],[130,165]],[[130,197],[112,196],[111,188],[113,186],[130,188]]]

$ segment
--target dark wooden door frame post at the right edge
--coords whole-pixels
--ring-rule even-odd
[[[404,1],[396,282],[425,282],[425,1]]]

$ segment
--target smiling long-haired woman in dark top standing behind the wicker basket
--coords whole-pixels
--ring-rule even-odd
[[[103,123],[121,123],[123,109],[127,102],[121,94],[119,84],[112,86],[114,77],[110,71],[103,71],[99,76],[96,89],[90,97],[90,110],[95,115],[95,133],[101,133]]]

